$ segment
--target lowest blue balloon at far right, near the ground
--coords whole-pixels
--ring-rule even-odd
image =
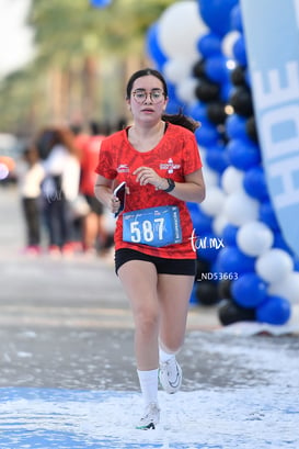
[[[260,323],[283,325],[289,321],[290,313],[290,304],[285,298],[268,295],[256,307],[256,319]]]

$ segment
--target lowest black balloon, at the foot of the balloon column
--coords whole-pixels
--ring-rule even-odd
[[[218,306],[218,317],[223,326],[238,322],[254,322],[255,310],[244,308],[231,300],[222,300]]]

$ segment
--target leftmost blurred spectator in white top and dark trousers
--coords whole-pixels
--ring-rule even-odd
[[[22,209],[26,225],[27,255],[41,254],[41,195],[45,170],[35,146],[27,146],[16,166]]]

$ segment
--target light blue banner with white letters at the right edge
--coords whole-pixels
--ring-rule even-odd
[[[241,9],[268,191],[299,256],[299,0],[241,0]]]

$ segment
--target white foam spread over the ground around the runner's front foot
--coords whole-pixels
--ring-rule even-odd
[[[298,449],[297,340],[268,341],[205,339],[198,333],[202,350],[221,356],[218,375],[226,374],[225,355],[228,369],[235,366],[240,375],[240,367],[248,367],[252,378],[238,383],[231,371],[232,386],[159,392],[156,430],[134,428],[141,411],[136,392],[0,389],[0,448]]]

